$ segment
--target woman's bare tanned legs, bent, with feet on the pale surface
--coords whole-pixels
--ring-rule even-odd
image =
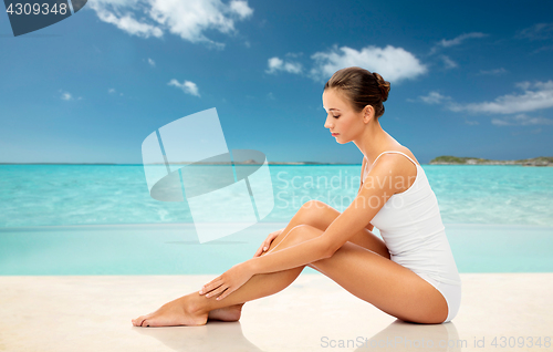
[[[298,211],[284,231],[273,240],[269,251],[294,246],[300,241],[323,234],[324,230],[320,228],[304,224],[298,225],[302,221],[309,221],[310,217],[307,215],[311,216],[315,213],[302,208],[304,210]],[[320,217],[315,216],[314,219],[319,221],[321,227],[333,221],[332,210],[334,209],[328,208],[316,210]],[[323,213],[326,215],[325,220],[321,220]],[[364,230],[356,234],[356,236],[366,235],[367,232],[373,235],[371,231]],[[352,238],[355,238],[355,236]],[[366,248],[348,241],[333,257],[321,259],[309,266],[326,275],[354,296],[401,320],[440,323],[446,319],[448,312],[447,302],[431,284],[409,269],[390,261],[388,259],[389,252],[385,246],[382,247],[383,242],[376,236],[374,238],[369,237],[368,241],[359,238],[359,241],[363,241],[365,246],[373,247]],[[205,324],[209,312],[217,310],[222,312],[225,308],[229,307],[241,308],[241,304],[247,301],[283,290],[298,278],[304,267],[254,275],[222,301],[206,298],[196,291],[163,306],[154,313],[133,320],[133,324],[137,327]]]

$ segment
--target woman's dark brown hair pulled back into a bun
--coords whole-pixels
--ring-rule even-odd
[[[383,103],[388,99],[389,82],[376,72],[353,66],[336,71],[324,85],[324,90],[327,89],[344,93],[357,112],[372,105],[378,118],[384,114]]]

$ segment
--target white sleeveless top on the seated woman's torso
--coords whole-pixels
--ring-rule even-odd
[[[371,220],[380,230],[390,259],[417,275],[427,275],[437,281],[460,286],[461,279],[441,222],[438,199],[425,170],[405,153],[384,153],[405,155],[417,167],[414,184],[407,190],[388,198]]]

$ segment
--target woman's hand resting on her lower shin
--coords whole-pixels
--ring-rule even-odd
[[[230,293],[238,290],[252,276],[253,271],[251,271],[250,267],[247,265],[247,261],[244,261],[233,266],[207,284],[204,284],[199,293],[206,294],[207,298],[218,296],[217,300],[222,300]]]

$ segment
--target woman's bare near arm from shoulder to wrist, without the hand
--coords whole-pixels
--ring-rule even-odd
[[[292,247],[252,258],[246,265],[253,273],[265,273],[296,268],[302,265],[328,258],[354,234],[366,227],[367,220],[380,210],[397,190],[394,176],[399,165],[394,155],[383,155],[365,178],[365,183],[352,204],[342,213],[321,236]],[[397,177],[395,176],[395,177]]]

